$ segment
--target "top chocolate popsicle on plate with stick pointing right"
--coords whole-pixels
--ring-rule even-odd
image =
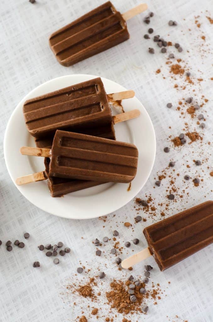
[[[32,136],[41,138],[54,136],[57,129],[80,132],[110,125],[109,101],[117,99],[117,94],[130,98],[134,91],[107,95],[98,77],[28,99],[23,105],[26,127]]]

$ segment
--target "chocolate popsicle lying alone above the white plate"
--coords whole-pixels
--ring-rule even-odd
[[[141,4],[121,15],[110,1],[52,33],[50,47],[63,66],[70,66],[129,39],[127,19],[147,9]]]

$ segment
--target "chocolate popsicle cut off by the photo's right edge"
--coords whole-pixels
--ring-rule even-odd
[[[122,267],[153,255],[160,270],[166,270],[213,242],[213,201],[154,223],[143,232],[148,248],[123,260]]]

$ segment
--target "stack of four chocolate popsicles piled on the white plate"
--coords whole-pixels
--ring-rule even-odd
[[[140,112],[112,116],[109,103],[133,96],[132,90],[107,95],[96,78],[27,100],[23,114],[36,147],[22,147],[21,153],[44,156],[45,170],[16,183],[47,180],[56,197],[106,182],[131,182],[138,150],[116,141],[114,124]]]

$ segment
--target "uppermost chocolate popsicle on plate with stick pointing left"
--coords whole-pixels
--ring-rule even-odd
[[[22,154],[51,157],[49,175],[128,183],[137,172],[138,150],[130,143],[57,130],[52,149],[22,147]]]

